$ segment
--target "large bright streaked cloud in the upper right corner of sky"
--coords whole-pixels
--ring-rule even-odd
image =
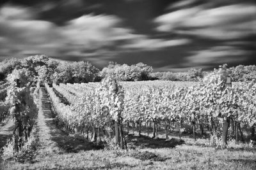
[[[244,38],[256,32],[256,6],[232,4],[218,8],[194,6],[155,19],[157,31],[192,34],[212,39]]]

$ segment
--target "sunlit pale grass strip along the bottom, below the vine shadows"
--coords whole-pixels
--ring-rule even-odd
[[[45,148],[47,150],[47,148]],[[56,148],[55,150],[58,150]],[[47,153],[47,152],[44,152]],[[140,153],[143,153],[140,155]],[[147,157],[141,159],[141,157]],[[152,154],[153,153],[153,154]],[[161,157],[163,159],[155,159]],[[162,161],[163,160],[163,161]],[[178,145],[141,150],[88,150],[38,155],[33,164],[9,162],[6,169],[255,169],[255,150],[215,150]]]

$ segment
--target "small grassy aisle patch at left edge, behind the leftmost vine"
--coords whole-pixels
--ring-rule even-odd
[[[15,129],[15,122],[13,119],[8,120],[8,122],[3,125],[3,127],[0,127],[0,148],[2,148],[6,141],[9,138],[12,138],[13,131]]]

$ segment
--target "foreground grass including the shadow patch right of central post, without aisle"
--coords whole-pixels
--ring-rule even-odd
[[[52,141],[26,163],[5,162],[4,169],[255,169],[255,148],[236,145],[225,150],[205,147],[204,140],[185,144],[172,138],[132,136],[133,150],[68,150],[67,143]],[[61,143],[61,145],[59,145]],[[165,145],[163,145],[165,143]],[[75,143],[73,143],[75,145]],[[84,142],[83,145],[88,145]]]

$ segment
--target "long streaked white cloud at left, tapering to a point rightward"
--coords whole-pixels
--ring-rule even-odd
[[[1,55],[44,53],[63,57],[104,55],[107,58],[127,50],[159,50],[189,43],[189,39],[152,39],[135,34],[132,29],[122,27],[122,19],[115,15],[83,15],[64,25],[56,25],[36,20],[32,8],[8,4],[0,11],[3,15],[0,18]]]

